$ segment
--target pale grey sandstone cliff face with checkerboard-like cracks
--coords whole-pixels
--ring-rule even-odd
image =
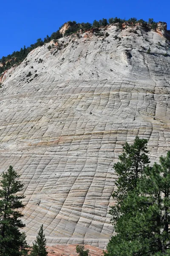
[[[25,183],[29,242],[43,224],[48,245],[105,248],[122,145],[146,138],[152,161],[170,150],[169,41],[140,26],[100,32],[38,47],[2,78],[0,172],[14,166]]]

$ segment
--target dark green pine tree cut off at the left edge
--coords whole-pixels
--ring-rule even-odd
[[[21,195],[16,195],[23,189],[23,184],[18,180],[20,175],[9,166],[3,173],[0,181],[0,256],[26,255],[26,237],[20,233],[20,228],[25,227],[20,217],[23,215],[19,208],[23,207]]]

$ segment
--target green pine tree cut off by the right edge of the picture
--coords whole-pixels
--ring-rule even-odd
[[[142,211],[142,215],[149,222],[150,251],[170,255],[170,151],[159,161],[160,164],[147,167],[139,180],[139,198],[143,197],[142,204],[147,205],[147,211]]]

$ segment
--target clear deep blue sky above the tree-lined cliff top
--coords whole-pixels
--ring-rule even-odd
[[[2,0],[0,11],[0,58],[51,35],[68,20],[153,18],[170,29],[170,0]]]

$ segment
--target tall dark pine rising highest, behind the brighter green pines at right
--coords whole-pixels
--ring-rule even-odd
[[[109,213],[112,215],[112,221],[117,221],[122,214],[121,204],[126,198],[128,192],[136,189],[137,181],[144,171],[144,167],[150,163],[147,157],[147,140],[136,137],[133,145],[125,143],[123,153],[119,156],[120,162],[115,163],[113,168],[117,175],[117,190],[113,192],[113,198],[116,205],[111,207]]]

